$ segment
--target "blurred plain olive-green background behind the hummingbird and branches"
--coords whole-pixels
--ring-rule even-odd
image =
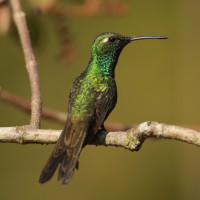
[[[75,61],[58,59],[60,46],[48,16],[37,18],[43,105],[66,111],[74,78],[90,58],[101,32],[163,35],[168,40],[144,40],[128,45],[116,69],[118,104],[108,121],[137,124],[154,120],[199,125],[200,1],[124,1],[123,17],[96,16],[66,20],[77,48]],[[36,23],[37,24],[37,23]],[[10,35],[0,36],[0,85],[30,99],[30,85],[21,46]],[[0,101],[0,126],[28,124],[29,116]],[[62,129],[48,120],[42,128]],[[0,144],[0,199],[200,199],[200,150],[171,140],[148,140],[139,152],[88,146],[80,169],[67,186],[55,175],[45,185],[38,177],[52,145]]]

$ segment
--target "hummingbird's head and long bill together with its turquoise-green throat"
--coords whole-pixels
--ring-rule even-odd
[[[114,77],[114,70],[122,49],[130,42],[142,39],[167,39],[162,36],[128,37],[106,32],[97,36],[92,45],[91,66],[98,66],[104,74]],[[94,64],[95,63],[95,64]],[[90,65],[89,65],[90,66]],[[92,69],[92,67],[88,67]]]

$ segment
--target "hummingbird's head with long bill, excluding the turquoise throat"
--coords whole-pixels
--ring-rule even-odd
[[[96,37],[92,45],[92,56],[119,56],[122,49],[130,42],[142,39],[167,39],[163,36],[128,37],[113,32],[105,32]]]

